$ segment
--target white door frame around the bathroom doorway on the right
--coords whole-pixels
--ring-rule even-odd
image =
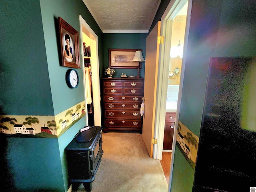
[[[176,111],[175,122],[178,122],[180,114],[180,100],[182,96],[182,87],[184,80],[184,69],[186,62],[186,51],[188,44],[188,32],[190,26],[190,15],[192,9],[192,0],[174,0],[170,1],[164,14],[161,18],[161,36],[164,36],[164,44],[160,46],[160,57],[159,57],[159,70],[158,70],[158,98],[156,101],[156,123],[155,123],[155,132],[154,138],[157,138],[158,144],[154,145],[153,148],[153,158],[162,159],[163,152],[163,141],[164,141],[164,123],[165,123],[165,114],[166,114],[166,99],[167,99],[167,87],[168,87],[168,71],[170,65],[170,48],[171,48],[171,36],[172,36],[172,20],[176,17],[178,12],[182,7],[188,2],[187,18],[186,18],[186,29],[184,36],[184,50],[182,58],[182,67],[181,67],[181,76],[180,76],[180,86],[178,93],[178,104]],[[177,134],[178,123],[175,123],[174,126],[174,138],[172,143],[172,156],[171,156],[171,165],[170,165],[170,179],[168,183],[168,191],[171,190],[172,182],[172,169],[174,162],[174,153],[176,145],[176,134]]]

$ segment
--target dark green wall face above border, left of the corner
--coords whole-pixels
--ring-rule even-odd
[[[54,115],[39,0],[1,0],[0,33],[3,113]]]

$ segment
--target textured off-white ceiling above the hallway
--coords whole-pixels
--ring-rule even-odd
[[[104,33],[148,32],[161,0],[83,0]]]

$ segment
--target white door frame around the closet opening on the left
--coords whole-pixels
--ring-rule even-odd
[[[80,22],[80,39],[82,42],[83,33],[90,38],[90,48],[91,48],[91,71],[92,71],[92,92],[93,92],[93,107],[94,107],[94,125],[101,126],[101,109],[100,109],[100,72],[99,72],[99,57],[98,57],[98,36],[86,23],[84,18],[79,15]],[[80,46],[81,50],[84,50],[83,44]],[[83,51],[82,58],[84,58]],[[86,83],[85,83],[85,73],[84,73],[84,59],[83,60],[83,80],[84,80],[84,97],[86,101]],[[87,108],[87,105],[86,105]],[[87,110],[86,110],[87,113]],[[86,125],[88,126],[88,114],[86,114]]]

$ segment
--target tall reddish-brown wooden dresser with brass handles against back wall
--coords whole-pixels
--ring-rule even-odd
[[[109,130],[142,133],[140,105],[144,95],[144,78],[102,78],[104,132]]]

